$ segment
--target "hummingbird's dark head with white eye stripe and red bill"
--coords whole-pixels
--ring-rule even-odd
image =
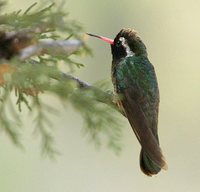
[[[133,29],[122,29],[114,40],[99,35],[88,35],[111,44],[113,59],[117,60],[132,55],[147,55],[146,46]]]

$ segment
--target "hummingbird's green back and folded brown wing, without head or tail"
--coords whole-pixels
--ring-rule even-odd
[[[143,150],[161,168],[166,163],[159,147],[157,119],[159,91],[155,71],[147,57],[126,57],[115,70],[116,91]]]

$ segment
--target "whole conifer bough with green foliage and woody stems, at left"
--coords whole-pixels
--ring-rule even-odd
[[[52,157],[57,150],[48,116],[56,109],[40,98],[42,93],[52,93],[63,103],[71,103],[82,115],[84,130],[92,141],[100,144],[103,138],[103,143],[118,152],[121,126],[114,111],[124,115],[117,105],[118,96],[70,73],[83,67],[71,54],[75,58],[91,54],[83,40],[84,30],[54,4],[39,10],[36,5],[24,12],[4,14],[0,0],[0,130],[20,146],[23,122],[19,113],[25,106],[35,117],[43,153]],[[69,73],[62,72],[61,63],[67,65]],[[16,98],[10,97],[14,91]]]

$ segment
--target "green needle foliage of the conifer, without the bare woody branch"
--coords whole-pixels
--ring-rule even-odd
[[[4,4],[0,2],[0,6],[2,10]],[[31,31],[34,32],[35,41],[47,38],[81,40],[83,28],[67,16],[67,13],[56,8],[54,4],[38,10],[37,4],[34,3],[24,12],[19,10],[1,14],[0,30]],[[81,54],[90,53],[90,49],[84,44],[74,55],[79,57]],[[121,129],[116,121],[116,110],[103,104],[112,103],[111,95],[104,94],[96,88],[81,87],[73,78],[63,75],[60,69],[61,62],[68,66],[69,73],[83,66],[70,55],[45,54],[24,61],[18,57],[6,61],[13,72],[4,74],[5,83],[0,87],[0,129],[7,133],[14,144],[22,146],[19,137],[20,126],[23,123],[20,112],[24,110],[22,106],[26,106],[34,116],[35,132],[41,136],[42,152],[53,157],[57,150],[54,146],[49,113],[54,113],[55,109],[44,104],[40,95],[54,94],[62,102],[70,102],[82,115],[85,133],[92,141],[99,145],[106,138],[108,146],[119,151]],[[5,60],[0,60],[0,63],[5,63]],[[13,104],[15,101],[16,105]]]

